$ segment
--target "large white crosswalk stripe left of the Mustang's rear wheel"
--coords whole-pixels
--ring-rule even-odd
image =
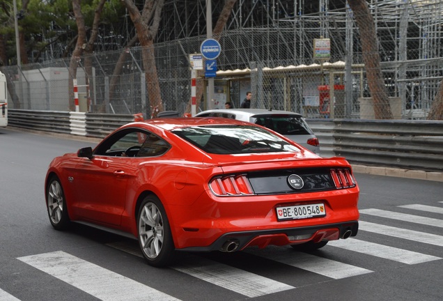
[[[17,258],[103,301],[179,300],[65,252]]]

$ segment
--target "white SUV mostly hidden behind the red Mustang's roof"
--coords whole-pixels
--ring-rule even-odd
[[[298,113],[267,109],[212,109],[202,111],[195,117],[224,117],[263,125],[320,155],[316,135]]]

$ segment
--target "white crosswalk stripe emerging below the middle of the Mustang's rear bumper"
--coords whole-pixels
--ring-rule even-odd
[[[254,255],[261,256],[259,252],[254,252]],[[288,252],[281,252],[279,254],[267,252],[266,256],[263,257],[333,279],[343,279],[373,272],[355,265],[333,261],[304,252],[290,252],[290,254]]]

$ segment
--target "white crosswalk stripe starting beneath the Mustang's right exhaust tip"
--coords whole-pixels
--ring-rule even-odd
[[[389,247],[386,245],[379,245],[374,242],[366,242],[353,238],[347,240],[332,240],[328,242],[328,245],[410,265],[441,259],[440,257],[436,256],[412,252],[405,249],[398,249],[396,247]]]

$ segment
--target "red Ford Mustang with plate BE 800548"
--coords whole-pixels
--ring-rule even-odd
[[[125,233],[155,266],[178,250],[309,250],[358,230],[346,160],[227,118],[124,125],[94,149],[56,157],[45,196],[55,229],[72,221]]]

